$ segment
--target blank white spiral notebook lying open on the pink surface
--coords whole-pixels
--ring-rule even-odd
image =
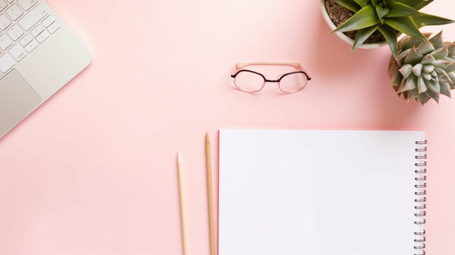
[[[219,255],[425,254],[423,131],[219,131]]]

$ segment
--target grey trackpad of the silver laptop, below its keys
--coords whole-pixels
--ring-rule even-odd
[[[41,102],[16,69],[0,80],[0,136]]]

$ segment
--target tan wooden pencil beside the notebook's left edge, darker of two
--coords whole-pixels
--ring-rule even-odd
[[[209,133],[205,134],[205,169],[207,171],[207,205],[209,212],[210,255],[215,255],[215,232],[213,213],[212,154],[210,153]]]

